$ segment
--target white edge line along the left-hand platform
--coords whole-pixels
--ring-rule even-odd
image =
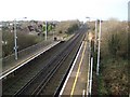
[[[2,75],[2,77],[0,77],[0,80],[2,79],[2,78],[4,78],[4,77],[6,77],[8,74],[10,74],[10,73],[12,73],[13,71],[15,71],[16,69],[18,69],[18,68],[21,68],[22,66],[24,66],[25,64],[27,64],[28,61],[30,61],[30,60],[32,60],[34,58],[36,58],[37,56],[39,56],[40,54],[42,54],[43,52],[46,52],[46,51],[48,51],[48,50],[50,50],[52,46],[54,46],[54,45],[56,45],[56,44],[58,44],[60,42],[56,42],[56,43],[54,43],[53,45],[52,44],[50,44],[50,47],[48,47],[47,46],[47,48],[46,50],[43,50],[42,52],[40,52],[40,53],[38,53],[36,56],[34,56],[34,57],[31,57],[30,59],[28,59],[27,61],[25,61],[25,63],[23,63],[22,65],[20,65],[18,67],[16,67],[16,68],[14,68],[13,70],[11,70],[11,71],[9,71],[9,70],[6,70],[6,71],[9,71],[8,73],[5,73],[5,74],[0,74],[0,75]],[[4,72],[6,72],[6,71],[4,71]],[[4,72],[2,72],[2,73],[4,73]]]

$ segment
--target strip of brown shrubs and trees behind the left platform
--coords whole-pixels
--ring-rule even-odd
[[[48,36],[52,34],[53,33],[52,31],[54,31],[55,37],[69,36],[74,33],[74,31],[78,30],[79,25],[80,25],[79,20],[64,20],[64,22],[57,22],[56,24],[49,23],[47,27]],[[39,27],[38,29],[37,25],[35,24],[34,29],[36,30],[37,28],[36,31],[39,31],[39,30],[42,31],[42,32],[39,32],[39,34],[42,34],[46,31],[46,25],[43,24],[43,26],[42,25],[40,26],[41,27]],[[23,27],[21,26],[20,28],[22,29]],[[28,27],[25,27],[25,28],[28,28]],[[31,31],[24,30],[24,28],[23,28],[23,31],[21,31],[17,28],[16,34],[17,34],[18,51],[22,51],[26,47],[35,45],[41,41],[44,41],[43,36],[32,34]],[[13,30],[11,31],[9,26],[5,26],[5,27],[3,26],[2,27],[2,57],[6,57],[13,53],[14,53],[14,31]]]

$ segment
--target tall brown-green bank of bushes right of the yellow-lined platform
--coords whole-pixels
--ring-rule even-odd
[[[128,95],[128,31],[127,23],[110,19],[102,23],[100,93]]]

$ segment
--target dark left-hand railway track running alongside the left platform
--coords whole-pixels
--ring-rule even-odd
[[[14,95],[18,89],[21,89],[43,67],[46,67],[46,64],[49,61],[50,58],[54,58],[54,56],[56,56],[54,52],[56,52],[55,48],[58,50],[60,46],[62,46],[62,44],[58,44],[54,48],[51,48],[48,52],[43,53],[46,57],[41,55],[35,60],[28,63],[27,65],[18,69],[17,71],[15,71],[14,72],[15,75],[13,78],[3,80],[3,85],[2,85],[3,95]],[[50,53],[53,53],[53,54],[50,54]],[[51,57],[51,55],[53,55],[53,57]],[[42,63],[40,59],[43,59],[44,61]]]

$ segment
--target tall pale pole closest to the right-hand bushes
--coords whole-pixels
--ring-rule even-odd
[[[100,67],[100,46],[101,46],[101,19],[100,19],[100,32],[99,32],[99,48],[98,48],[98,66],[96,66],[96,74],[99,75],[99,67]]]

